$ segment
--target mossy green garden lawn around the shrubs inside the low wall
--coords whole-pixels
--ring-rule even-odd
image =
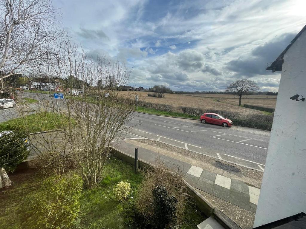
[[[2,228],[19,228],[16,211],[20,207],[22,197],[29,194],[43,182],[44,176],[33,170],[9,174],[13,186],[0,191],[0,225]],[[94,188],[84,190],[80,199],[79,213],[80,228],[136,228],[134,224],[135,198],[137,190],[144,179],[141,173],[134,174],[133,166],[116,158],[110,158],[103,180]],[[120,181],[131,184],[131,193],[125,202],[118,202],[114,198],[113,188]],[[196,228],[205,216],[194,205],[188,205],[182,229]]]

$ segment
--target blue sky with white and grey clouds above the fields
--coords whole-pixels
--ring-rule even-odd
[[[53,0],[88,56],[129,68],[131,86],[222,91],[247,78],[278,91],[266,71],[306,24],[305,0]]]

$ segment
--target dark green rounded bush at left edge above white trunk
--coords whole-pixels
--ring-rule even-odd
[[[14,172],[17,166],[28,157],[26,137],[22,129],[14,129],[2,134],[0,137],[0,168],[4,167],[7,172]]]

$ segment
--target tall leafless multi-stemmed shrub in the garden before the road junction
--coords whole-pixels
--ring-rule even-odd
[[[56,121],[56,133],[31,136],[30,143],[45,167],[53,165],[56,173],[71,163],[78,165],[85,184],[91,188],[101,176],[111,146],[118,144],[133,127],[129,119],[133,118],[134,95],[125,93],[123,97],[116,90],[119,85],[128,83],[132,70],[119,61],[90,59],[79,45],[69,40],[64,40],[54,52],[60,55],[51,72],[60,78],[65,99],[59,101],[59,111],[57,107],[50,109],[47,100],[42,104],[47,112],[58,115],[65,123]],[[68,76],[79,82],[66,84]],[[98,82],[105,86],[98,87]],[[82,88],[77,88],[80,85]],[[81,93],[75,96],[69,93],[72,90]]]

